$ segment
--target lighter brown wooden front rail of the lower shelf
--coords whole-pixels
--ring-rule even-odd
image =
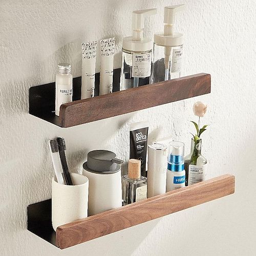
[[[234,176],[219,176],[59,226],[56,245],[64,249],[233,193]]]

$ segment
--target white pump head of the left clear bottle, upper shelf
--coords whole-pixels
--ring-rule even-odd
[[[133,40],[140,41],[143,38],[144,17],[157,13],[157,9],[133,11]]]

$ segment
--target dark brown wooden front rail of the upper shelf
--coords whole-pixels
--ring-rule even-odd
[[[201,73],[69,102],[60,106],[60,120],[70,127],[207,94],[210,81]]]

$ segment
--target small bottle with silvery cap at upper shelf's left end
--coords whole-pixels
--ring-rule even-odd
[[[71,65],[69,63],[59,63],[58,73],[55,80],[55,115],[59,116],[61,104],[72,101],[73,96],[73,76],[71,75]]]

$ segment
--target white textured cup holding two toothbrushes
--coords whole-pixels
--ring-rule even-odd
[[[74,185],[63,185],[52,178],[52,226],[58,226],[88,216],[89,180],[86,176],[70,173]]]

